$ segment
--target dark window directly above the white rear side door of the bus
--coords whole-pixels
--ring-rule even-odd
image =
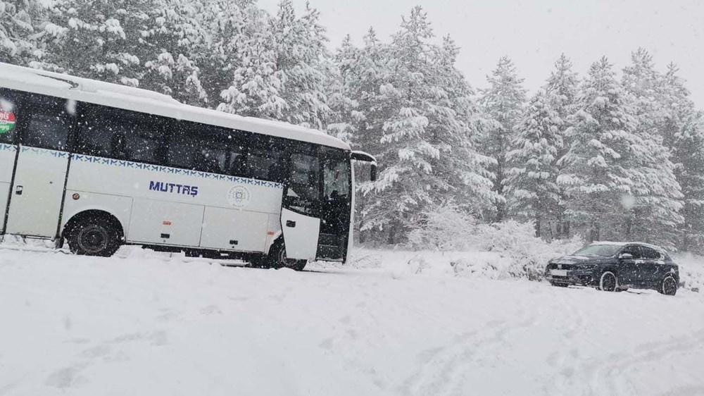
[[[65,151],[73,124],[75,101],[28,94],[25,109],[30,115],[23,144],[42,149]]]

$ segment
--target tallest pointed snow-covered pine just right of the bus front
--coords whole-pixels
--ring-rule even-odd
[[[380,133],[372,152],[384,166],[379,180],[363,185],[362,192],[370,201],[363,211],[365,227],[384,230],[389,244],[403,240],[414,215],[432,204],[432,192],[446,189],[446,182],[432,174],[431,160],[441,150],[428,142],[426,129],[432,37],[427,15],[417,6],[403,18],[385,53],[387,69],[379,89],[384,118],[381,129],[372,132]]]

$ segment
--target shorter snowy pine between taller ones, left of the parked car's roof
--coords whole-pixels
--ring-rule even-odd
[[[562,119],[550,98],[538,92],[529,101],[525,115],[515,128],[512,149],[506,155],[511,168],[506,172],[506,194],[511,196],[510,213],[534,221],[536,236],[548,223],[559,220],[560,188],[555,162],[562,148]]]

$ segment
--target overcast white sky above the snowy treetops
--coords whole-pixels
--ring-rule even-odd
[[[302,11],[306,0],[293,0]],[[420,4],[436,35],[451,35],[462,48],[458,68],[475,88],[503,55],[513,58],[528,89],[548,77],[562,52],[584,75],[602,55],[618,69],[644,47],[662,71],[681,69],[699,108],[704,107],[704,1],[702,0],[309,0],[321,13],[331,48],[348,33],[358,44],[370,26],[386,39],[401,16]],[[259,0],[275,12],[279,0]]]

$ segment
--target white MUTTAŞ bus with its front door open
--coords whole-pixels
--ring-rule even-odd
[[[0,63],[0,236],[303,269],[346,261],[353,161],[329,135]]]

